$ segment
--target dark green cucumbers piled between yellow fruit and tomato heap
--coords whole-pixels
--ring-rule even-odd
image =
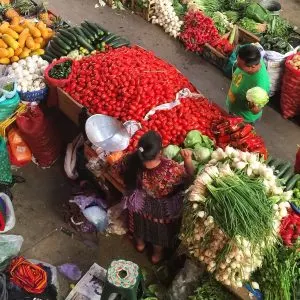
[[[74,50],[79,50],[78,54],[86,55],[94,50],[103,52],[107,47],[119,48],[128,45],[128,40],[108,32],[96,23],[85,21],[81,26],[59,30],[47,46],[43,58],[51,62],[55,58],[67,56]]]

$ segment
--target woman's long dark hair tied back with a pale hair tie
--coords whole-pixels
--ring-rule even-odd
[[[138,142],[138,149],[125,158],[125,170],[123,173],[126,188],[136,188],[137,176],[143,168],[143,162],[156,158],[162,149],[161,136],[155,131],[148,131]]]

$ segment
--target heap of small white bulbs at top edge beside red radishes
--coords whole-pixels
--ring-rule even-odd
[[[150,0],[154,6],[151,22],[162,26],[170,36],[177,37],[183,22],[179,20],[170,0]]]

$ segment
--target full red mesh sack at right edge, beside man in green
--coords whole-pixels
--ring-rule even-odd
[[[300,71],[290,64],[295,55],[297,54],[289,56],[285,61],[280,99],[284,118],[300,115]]]

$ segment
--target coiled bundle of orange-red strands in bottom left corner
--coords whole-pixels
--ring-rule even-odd
[[[47,287],[47,273],[39,266],[16,257],[8,269],[10,280],[20,288],[33,294],[41,294]]]

